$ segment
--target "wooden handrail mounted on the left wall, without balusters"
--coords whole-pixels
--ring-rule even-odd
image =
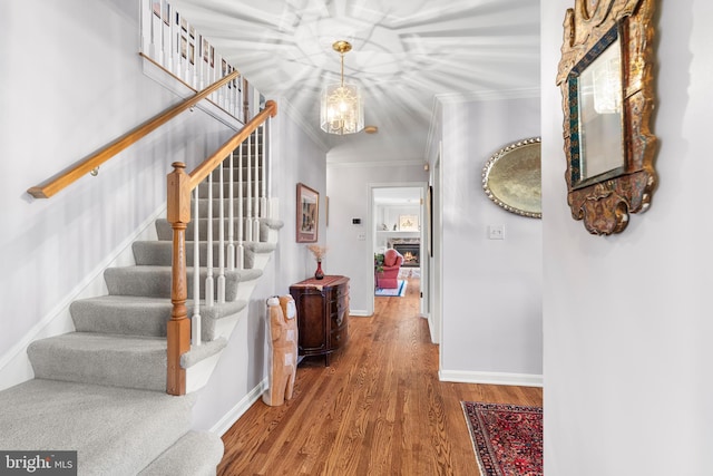
[[[62,188],[71,185],[74,182],[79,179],[80,177],[87,175],[89,172],[97,168],[99,165],[107,162],[109,158],[114,157],[119,152],[124,150],[128,146],[135,144],[140,138],[156,130],[158,127],[163,126],[174,117],[178,116],[186,109],[192,108],[201,100],[208,97],[211,94],[218,90],[221,87],[225,86],[227,82],[240,76],[238,71],[233,71],[232,74],[218,79],[207,88],[202,91],[196,93],[192,97],[180,101],[179,104],[166,109],[165,111],[152,117],[147,122],[143,123],[138,127],[129,130],[124,134],[121,137],[113,140],[107,144],[96,153],[91,154],[89,157],[86,157],[79,161],[77,164],[70,166],[69,168],[60,172],[53,177],[48,178],[43,183],[30,187],[27,193],[32,195],[35,198],[49,198],[55,195],[57,192]]]

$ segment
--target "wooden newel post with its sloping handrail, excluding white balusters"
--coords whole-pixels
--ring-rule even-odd
[[[174,171],[167,177],[168,203],[166,217],[173,229],[170,302],[173,310],[166,326],[167,366],[166,391],[170,395],[186,394],[186,369],[180,367],[180,356],[191,350],[191,320],[186,300],[188,299],[186,268],[186,227],[191,222],[191,192],[208,174],[218,167],[267,117],[277,114],[277,104],[265,103],[265,108],[251,119],[237,134],[227,139],[213,155],[193,172],[184,172],[185,164],[175,162]],[[208,224],[208,226],[211,226]]]

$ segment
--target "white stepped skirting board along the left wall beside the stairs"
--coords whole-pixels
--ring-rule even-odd
[[[39,339],[72,332],[75,326],[69,313],[69,305],[85,298],[107,293],[104,270],[110,266],[134,264],[131,243],[137,240],[156,240],[156,227],[152,226],[159,216],[166,214],[166,205],[162,205],[146,218],[126,240],[124,240],[106,259],[104,259],[86,278],[79,282],[62,301],[37,322],[4,356],[0,358],[0,390],[13,387],[35,377],[32,366],[27,356],[28,346]]]

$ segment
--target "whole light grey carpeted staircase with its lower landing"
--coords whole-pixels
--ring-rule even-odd
[[[235,183],[234,191],[243,186]],[[223,443],[217,435],[191,429],[192,407],[235,323],[247,312],[247,301],[276,247],[282,222],[260,218],[258,240],[242,243],[244,269],[225,272],[225,303],[206,307],[208,244],[204,240],[208,226],[213,236],[218,236],[218,187],[214,185],[209,194],[202,184],[198,196],[204,217],[188,225],[186,261],[192,290],[192,240],[197,223],[203,342],[182,356],[187,395],[166,394],[173,231],[162,218],[155,223],[157,241],[133,243],[135,265],[105,270],[107,295],[71,304],[75,332],[30,344],[35,379],[0,391],[2,450],[77,450],[80,475],[215,474]],[[213,203],[211,218],[203,212],[208,202]],[[217,266],[218,244],[211,246]],[[194,302],[188,300],[186,305],[192,315]]]

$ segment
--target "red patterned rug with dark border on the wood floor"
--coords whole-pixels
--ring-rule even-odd
[[[543,409],[461,401],[482,476],[543,474]]]

